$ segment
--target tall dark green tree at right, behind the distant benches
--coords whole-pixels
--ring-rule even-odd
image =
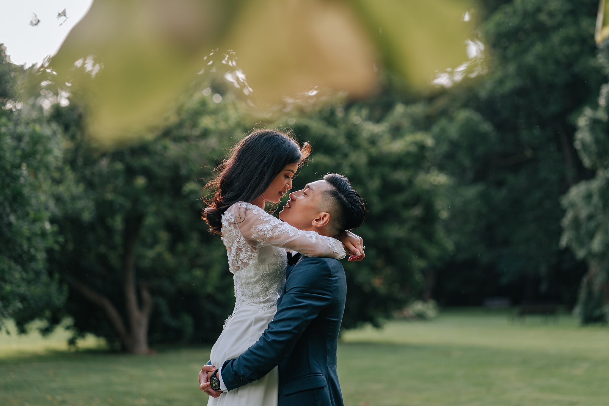
[[[444,304],[484,296],[573,303],[583,264],[559,247],[560,196],[590,172],[572,148],[570,117],[602,75],[593,32],[597,1],[510,1],[482,24],[489,72],[464,80],[428,114],[438,169],[450,177],[455,243],[438,271]]]

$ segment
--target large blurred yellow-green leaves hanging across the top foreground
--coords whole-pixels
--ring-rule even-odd
[[[158,124],[228,50],[261,102],[315,86],[363,97],[382,65],[425,86],[466,59],[467,10],[466,0],[95,0],[40,73],[84,97],[89,130],[112,141]]]

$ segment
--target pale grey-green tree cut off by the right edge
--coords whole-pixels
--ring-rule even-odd
[[[599,61],[609,73],[609,44],[605,41]],[[575,146],[594,177],[569,189],[562,204],[561,245],[588,263],[574,313],[581,323],[609,320],[609,84],[600,86],[596,109],[586,107],[577,120]]]

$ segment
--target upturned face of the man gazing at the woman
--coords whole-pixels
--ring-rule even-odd
[[[305,189],[290,193],[290,200],[279,213],[279,218],[301,230],[313,229],[312,222],[323,210],[323,191],[331,186],[325,180],[308,183]]]

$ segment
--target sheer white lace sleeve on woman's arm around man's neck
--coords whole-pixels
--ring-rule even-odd
[[[258,206],[236,203],[229,210],[234,226],[252,247],[273,245],[311,257],[342,259],[347,255],[339,240],[292,227]]]

